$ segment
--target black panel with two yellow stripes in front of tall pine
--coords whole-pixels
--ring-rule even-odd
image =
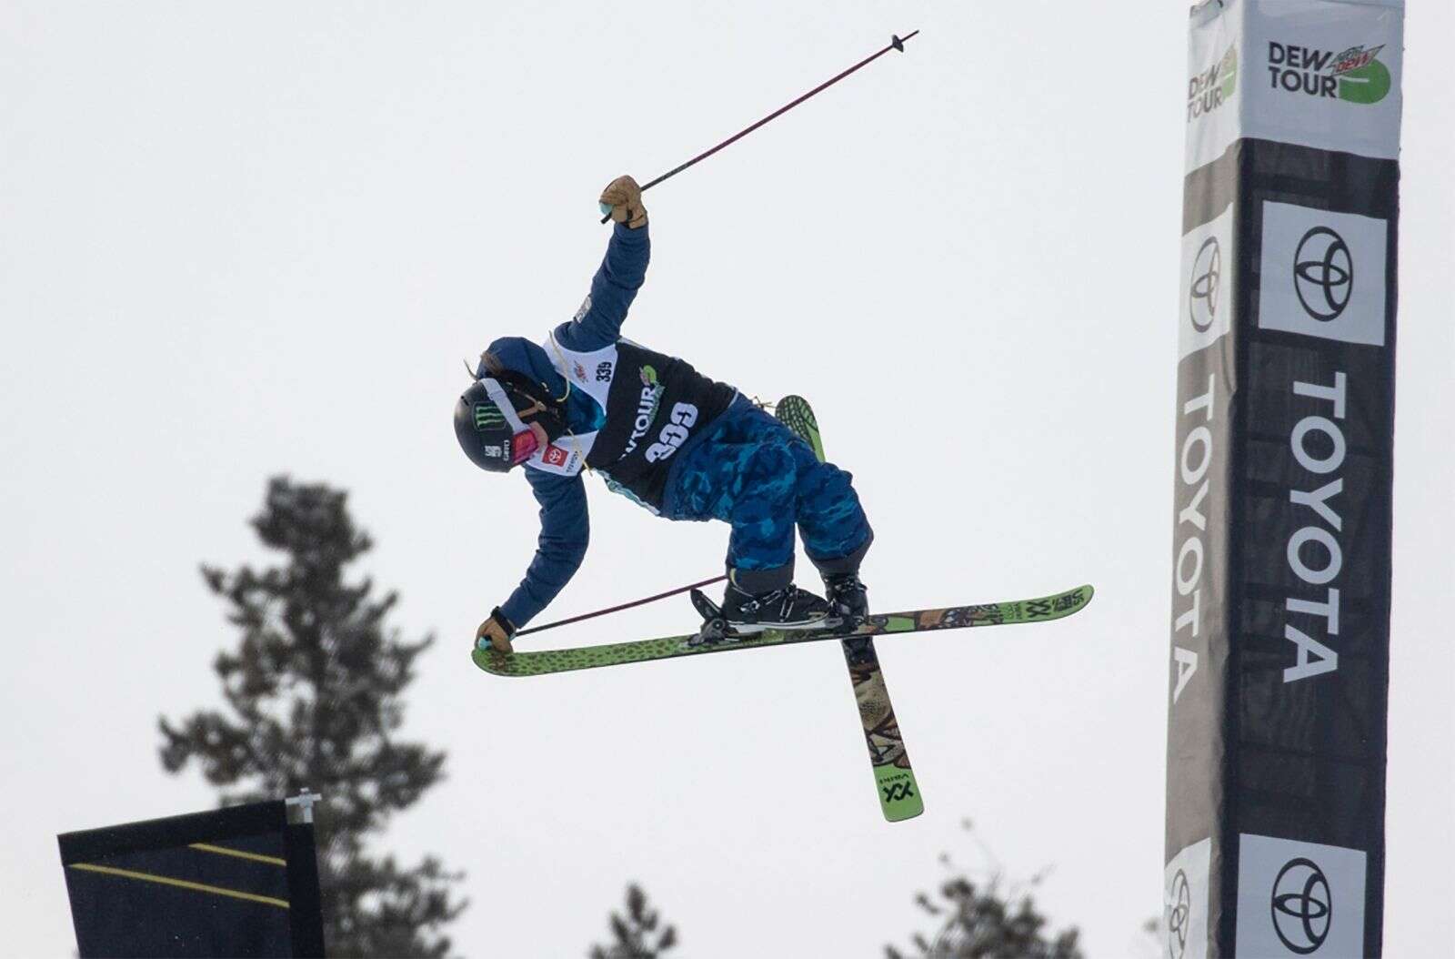
[[[61,835],[80,955],[322,956],[317,799]]]

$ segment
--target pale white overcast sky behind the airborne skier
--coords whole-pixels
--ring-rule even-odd
[[[812,9],[806,9],[812,6]],[[627,333],[797,391],[877,608],[1094,582],[1075,620],[880,645],[927,813],[880,819],[832,645],[533,681],[474,626],[530,559],[460,359],[567,319],[597,194],[924,32],[647,194]],[[1448,4],[1407,25],[1387,955],[1455,899]],[[976,821],[1096,958],[1160,911],[1186,4],[0,4],[0,914],[70,955],[55,834],[212,803],[156,719],[218,701],[199,562],[265,480],[352,492],[434,632],[404,733],[450,779],[387,848],[469,872],[467,955],[576,956],[640,880],[684,955],[877,956]],[[591,486],[547,616],[714,575],[726,527]],[[685,602],[550,636],[681,632]],[[773,944],[773,947],[770,947]]]

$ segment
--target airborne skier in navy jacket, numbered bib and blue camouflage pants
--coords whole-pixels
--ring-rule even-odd
[[[812,629],[869,611],[858,566],[873,541],[844,470],[733,387],[621,336],[646,276],[642,191],[620,176],[601,194],[611,240],[575,319],[544,343],[490,343],[454,409],[455,437],[492,473],[525,467],[541,533],[525,579],[476,630],[508,652],[586,553],[581,471],[668,520],[732,524],[722,614],[739,633]],[[794,527],[826,600],[793,584]]]

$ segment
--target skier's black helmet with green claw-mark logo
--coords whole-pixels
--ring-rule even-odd
[[[530,432],[524,421],[534,419],[546,429],[546,438],[554,441],[566,431],[562,406],[543,383],[502,370],[476,380],[460,394],[454,409],[455,438],[482,470],[505,473],[515,466],[521,434]]]

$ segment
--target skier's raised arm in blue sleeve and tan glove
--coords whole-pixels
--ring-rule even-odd
[[[630,176],[618,176],[601,194],[601,204],[611,207],[611,240],[607,256],[591,279],[591,295],[570,323],[556,327],[556,339],[567,349],[589,352],[617,342],[621,323],[646,279],[652,242],[646,230],[642,191]]]

